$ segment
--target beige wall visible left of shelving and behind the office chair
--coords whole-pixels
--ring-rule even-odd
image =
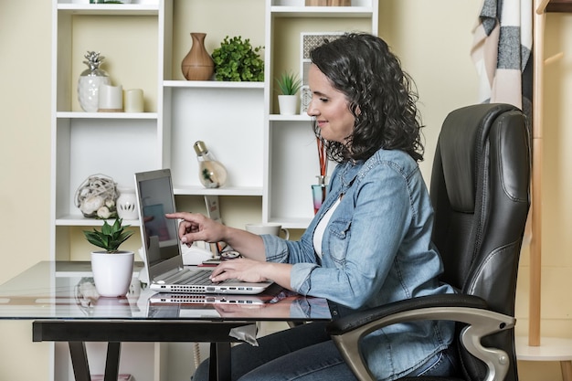
[[[426,178],[440,124],[447,112],[475,102],[476,74],[469,50],[471,27],[481,0],[383,0],[380,2],[380,36],[401,58],[418,85],[421,111],[427,125]],[[10,279],[37,260],[48,259],[50,183],[50,73],[51,2],[48,0],[3,1],[0,11],[0,282]],[[224,20],[218,20],[224,26]],[[571,111],[572,16],[549,15],[546,55],[564,50],[565,58],[546,71],[545,207],[543,257],[543,324],[546,335],[572,337],[572,306],[565,292],[572,286],[568,276],[572,259],[572,221],[567,218],[570,197],[567,186],[571,168],[567,142]],[[177,36],[188,46],[188,36]],[[222,33],[222,32],[221,32]],[[223,33],[224,34],[224,33]],[[222,36],[222,35],[221,35]],[[212,42],[212,41],[211,41]],[[175,48],[176,49],[176,48]],[[175,64],[174,64],[175,65]],[[260,207],[256,197],[247,203],[228,197],[223,203],[229,225],[244,224],[245,205]],[[200,201],[185,200],[185,206]],[[252,216],[252,215],[251,215]],[[256,215],[254,215],[256,216]],[[10,253],[10,254],[8,254]],[[528,252],[524,249],[517,296],[517,333],[527,332]],[[0,379],[48,380],[49,345],[31,343],[29,322],[0,322],[2,347]],[[26,366],[22,366],[22,355]],[[33,364],[33,366],[29,366]],[[521,363],[521,379],[560,380],[556,363]]]

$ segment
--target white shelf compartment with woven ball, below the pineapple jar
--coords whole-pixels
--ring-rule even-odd
[[[118,185],[134,186],[136,172],[161,166],[154,120],[59,119],[56,140],[56,216],[80,214],[76,190],[90,175],[108,175]]]

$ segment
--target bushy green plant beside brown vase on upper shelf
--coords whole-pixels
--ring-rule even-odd
[[[249,38],[228,36],[213,51],[215,78],[227,81],[264,80],[264,61],[259,56],[262,47],[253,48]]]

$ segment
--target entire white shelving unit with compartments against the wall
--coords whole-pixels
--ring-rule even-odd
[[[52,0],[50,259],[73,260],[70,236],[77,234],[78,227],[101,224],[81,216],[74,204],[76,189],[94,174],[132,185],[135,172],[169,167],[178,196],[260,196],[262,221],[280,222],[284,228],[308,225],[313,216],[310,185],[319,174],[312,123],[307,115],[285,117],[275,112],[274,78],[282,70],[300,68],[302,32],[376,34],[378,2],[307,7],[303,0],[265,0],[260,2],[264,19],[248,21],[264,23],[260,28],[265,33],[264,82],[178,80],[182,77],[173,72],[179,61],[174,57],[174,34],[180,30],[177,23],[185,21],[176,17],[176,5],[195,3],[200,9],[207,4],[222,14],[237,1],[132,0],[126,5],[91,5],[87,0]],[[204,30],[207,34],[225,25],[213,22],[210,27]],[[193,26],[184,29],[190,31]],[[122,84],[124,90],[143,89],[145,112],[81,111],[77,80],[85,69],[81,61],[88,49],[106,57],[103,69],[113,84]],[[133,78],[133,72],[144,75]],[[199,184],[192,149],[196,140],[205,141],[227,166],[227,186],[205,189]],[[128,222],[139,225],[136,220]],[[138,381],[188,379],[190,375],[174,370],[181,366],[174,366],[169,356],[180,345],[126,345],[120,370]],[[96,361],[101,348],[92,347],[90,361]],[[72,379],[67,346],[55,344],[54,348],[53,379]],[[151,363],[152,369],[143,372],[138,358],[148,359],[144,363]],[[190,349],[187,358],[191,363]]]

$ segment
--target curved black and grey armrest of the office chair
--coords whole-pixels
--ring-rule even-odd
[[[327,326],[334,344],[359,380],[374,380],[359,349],[360,340],[394,323],[418,320],[449,320],[468,324],[461,332],[461,343],[471,355],[482,360],[489,371],[485,381],[502,380],[508,372],[510,357],[497,348],[485,348],[481,339],[492,333],[512,329],[512,316],[487,310],[481,298],[472,295],[431,295],[400,301],[345,316]]]

